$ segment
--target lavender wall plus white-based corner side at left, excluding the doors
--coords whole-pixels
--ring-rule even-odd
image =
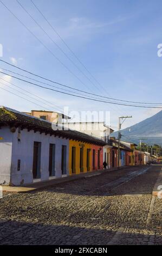
[[[66,167],[69,175],[69,140],[54,135],[34,133],[24,129],[21,131],[21,141],[18,142],[18,128],[11,133],[7,127],[2,127],[0,140],[0,183],[11,181],[13,185],[30,184],[33,182],[33,150],[34,141],[41,142],[41,181],[49,179],[49,144],[55,144],[55,178],[61,178],[62,145],[67,146]],[[20,170],[17,170],[18,160],[21,160]],[[10,178],[11,175],[11,178]]]

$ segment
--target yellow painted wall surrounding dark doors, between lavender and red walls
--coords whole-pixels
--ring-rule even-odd
[[[76,148],[76,159],[75,159],[75,174],[80,174],[80,148],[83,147],[83,173],[87,172],[87,149],[91,149],[89,153],[89,167],[92,170],[92,145],[88,143],[82,143],[78,141],[69,141],[69,175],[72,175],[72,147]]]

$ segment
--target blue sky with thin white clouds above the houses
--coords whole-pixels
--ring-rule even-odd
[[[21,68],[51,80],[89,92],[93,91],[97,94],[131,101],[162,101],[162,77],[160,75],[162,57],[157,56],[157,45],[162,43],[161,1],[34,0],[63,40],[102,84],[102,88],[99,89],[96,88],[100,87],[99,84],[96,83],[96,87],[94,87],[69,62],[18,5],[16,0],[2,1],[85,85],[70,74],[0,3],[0,44],[3,45],[3,57],[1,59],[15,63]],[[34,5],[29,0],[20,0],[20,2],[91,80],[92,77],[77,62],[47,22],[43,20]],[[0,63],[1,68],[9,67]],[[10,70],[14,69],[10,68]],[[124,128],[159,111],[159,109],[114,106],[77,99],[27,86],[27,84],[18,82],[14,78],[5,77],[5,79],[28,90],[28,92],[53,102],[57,106],[69,106],[70,111],[110,111],[111,125],[114,129],[116,129],[119,115],[133,115],[133,118],[128,119],[122,126]],[[95,83],[94,80],[93,83]],[[0,87],[16,93],[14,88],[2,86],[2,84]],[[1,89],[0,105],[19,111],[41,108]],[[42,106],[46,109],[46,105]]]

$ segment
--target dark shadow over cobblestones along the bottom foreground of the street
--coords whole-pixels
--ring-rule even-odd
[[[114,231],[99,228],[80,228],[69,225],[44,225],[9,221],[1,223],[1,245],[107,245]],[[149,235],[122,233],[116,244],[142,244],[150,240]],[[161,243],[156,236],[156,244]],[[112,241],[113,243],[113,241]]]

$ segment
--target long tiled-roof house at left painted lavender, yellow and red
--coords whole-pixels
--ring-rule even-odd
[[[0,127],[0,184],[61,178],[72,169],[76,174],[88,172],[93,169],[93,150],[94,167],[102,168],[106,143],[100,139],[7,107],[0,107]]]

